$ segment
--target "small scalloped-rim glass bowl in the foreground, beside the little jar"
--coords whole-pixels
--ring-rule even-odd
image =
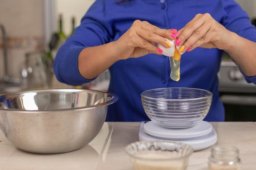
[[[137,141],[125,150],[135,170],[186,170],[193,153],[187,144],[166,140]]]

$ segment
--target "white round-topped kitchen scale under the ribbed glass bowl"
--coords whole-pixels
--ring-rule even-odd
[[[190,145],[195,151],[209,148],[217,141],[217,133],[207,121],[200,121],[192,128],[162,128],[153,121],[141,121],[139,140],[172,140]]]

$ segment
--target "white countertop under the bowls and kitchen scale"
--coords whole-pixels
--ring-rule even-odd
[[[218,134],[216,144],[236,146],[242,170],[256,169],[256,123],[211,122]],[[125,146],[138,141],[139,122],[105,122],[82,149],[52,155],[24,152],[0,133],[0,170],[132,170]],[[193,152],[187,170],[207,170],[210,148]]]

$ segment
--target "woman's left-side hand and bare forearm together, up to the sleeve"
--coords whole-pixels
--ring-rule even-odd
[[[135,20],[117,41],[83,49],[79,54],[79,72],[86,79],[93,79],[119,60],[150,53],[162,55],[156,44],[168,48],[165,38],[174,40],[177,34],[176,29],[160,29],[146,21]]]

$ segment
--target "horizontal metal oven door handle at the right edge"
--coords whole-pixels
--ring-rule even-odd
[[[256,96],[222,95],[223,104],[256,105]]]

